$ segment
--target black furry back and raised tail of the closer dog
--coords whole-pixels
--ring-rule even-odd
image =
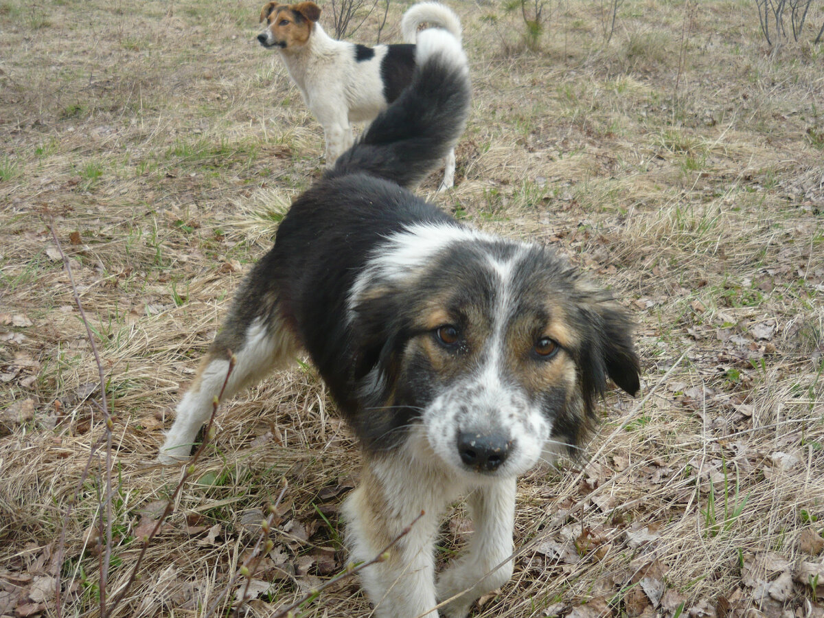
[[[353,396],[353,376],[339,371],[353,360],[345,302],[358,267],[405,225],[448,220],[402,187],[427,176],[463,132],[471,100],[466,55],[444,30],[422,32],[415,54],[410,87],[295,201],[272,250],[284,319],[344,409]]]

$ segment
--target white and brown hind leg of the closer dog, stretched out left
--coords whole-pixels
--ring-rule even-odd
[[[230,353],[234,353],[236,363],[223,400],[295,357],[297,345],[280,316],[276,293],[267,276],[267,262],[260,260],[246,278],[194,382],[177,405],[175,423],[158,456],[162,463],[189,458],[194,438],[212,414],[214,398],[226,381]]]

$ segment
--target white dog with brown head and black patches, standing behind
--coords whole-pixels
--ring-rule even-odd
[[[326,167],[352,146],[353,122],[368,122],[395,101],[414,72],[414,42],[421,25],[436,26],[461,40],[461,21],[438,2],[415,4],[405,12],[400,30],[408,44],[366,45],[327,35],[314,2],[268,2],[260,12],[266,27],[258,35],[264,47],[274,47],[297,84],[311,112],[323,127]],[[455,184],[455,150],[444,159],[439,191]]]

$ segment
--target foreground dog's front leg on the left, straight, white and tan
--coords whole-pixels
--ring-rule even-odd
[[[397,466],[396,467],[400,467]],[[395,480],[404,475],[392,474]],[[347,538],[354,562],[379,555],[397,539],[382,561],[363,569],[361,583],[378,618],[438,618],[433,546],[442,505],[424,495],[426,483],[390,481],[364,466],[358,488],[344,504]],[[421,510],[426,513],[417,522]],[[414,522],[410,530],[406,527]],[[403,535],[403,536],[401,536]],[[400,538],[399,538],[400,537]]]

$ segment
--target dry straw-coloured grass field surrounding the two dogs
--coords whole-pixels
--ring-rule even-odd
[[[562,0],[533,54],[517,16],[452,5],[475,101],[456,189],[433,199],[594,271],[634,309],[644,362],[587,466],[522,480],[515,578],[475,615],[822,616],[822,585],[798,574],[822,564],[824,527],[824,48],[770,53],[743,0],[626,0],[605,47],[595,4]],[[118,419],[111,593],[176,485],[153,459],[180,385],[321,173],[321,130],[255,44],[257,8],[0,0],[0,615],[54,616],[43,578],[104,430],[49,219]],[[281,477],[256,575],[270,585],[240,613],[343,567],[335,509],[357,451],[315,372],[274,376],[218,424],[118,616],[201,616]],[[64,616],[98,613],[98,478],[68,522]],[[466,528],[453,514],[444,560]],[[307,608],[367,613],[353,583]]]

